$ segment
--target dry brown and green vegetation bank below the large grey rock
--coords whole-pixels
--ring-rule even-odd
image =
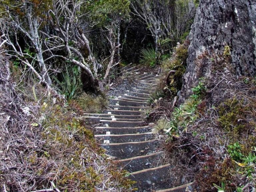
[[[169,128],[173,126],[166,145],[176,178],[173,185],[194,181],[195,191],[200,192],[217,191],[213,184],[225,192],[255,191],[255,160],[245,159],[255,155],[256,77],[237,77],[229,56],[205,53],[197,60],[206,62],[210,67],[202,71],[201,93],[195,90],[174,112],[173,96],[167,94],[153,114],[168,120]],[[229,151],[235,143],[240,156]]]

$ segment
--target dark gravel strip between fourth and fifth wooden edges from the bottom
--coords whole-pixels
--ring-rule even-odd
[[[113,134],[113,133],[111,133]],[[126,143],[126,142],[139,142],[147,141],[153,139],[154,135],[152,134],[143,134],[143,135],[127,135],[127,136],[105,136],[105,137],[96,137],[99,143],[103,144],[104,140],[109,140],[110,143]]]

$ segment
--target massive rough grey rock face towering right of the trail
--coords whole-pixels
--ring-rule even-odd
[[[187,70],[183,76],[181,101],[191,94],[204,76],[207,63],[198,56],[223,55],[231,48],[231,64],[237,75],[256,74],[256,0],[201,0],[189,34]]]

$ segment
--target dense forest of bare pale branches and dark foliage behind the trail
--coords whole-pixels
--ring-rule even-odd
[[[140,59],[138,50],[154,50],[151,62],[158,63],[185,39],[195,14],[191,0],[8,0],[0,5],[5,55],[55,94],[63,90],[59,82],[65,71],[76,75],[84,90],[101,92],[109,74]]]

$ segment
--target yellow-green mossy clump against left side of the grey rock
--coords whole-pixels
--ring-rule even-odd
[[[188,48],[180,45],[176,47],[173,58],[162,63],[162,67],[167,73],[171,70],[175,71],[166,79],[168,89],[172,92],[172,95],[176,95],[182,87],[182,76],[186,71],[187,57]]]

